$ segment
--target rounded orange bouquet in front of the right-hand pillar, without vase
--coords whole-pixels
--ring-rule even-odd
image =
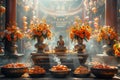
[[[100,42],[101,40],[117,40],[118,35],[116,31],[110,26],[103,26],[100,28],[98,32],[97,41]]]

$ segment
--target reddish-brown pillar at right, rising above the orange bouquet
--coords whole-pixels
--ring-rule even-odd
[[[117,0],[105,1],[105,25],[117,30]]]

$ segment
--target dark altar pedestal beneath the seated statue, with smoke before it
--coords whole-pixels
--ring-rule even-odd
[[[57,64],[63,64],[74,70],[80,65],[85,65],[88,54],[37,54],[32,53],[31,58],[34,65],[39,65],[47,71]]]

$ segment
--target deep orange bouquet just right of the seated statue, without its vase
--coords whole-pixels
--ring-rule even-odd
[[[76,40],[82,38],[89,40],[91,36],[91,27],[89,25],[76,25],[70,29],[70,38]]]

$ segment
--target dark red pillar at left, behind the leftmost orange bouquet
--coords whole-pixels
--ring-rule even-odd
[[[11,27],[9,25],[16,24],[16,0],[6,0],[6,22],[5,28]],[[5,55],[11,55],[12,41],[5,39]]]

